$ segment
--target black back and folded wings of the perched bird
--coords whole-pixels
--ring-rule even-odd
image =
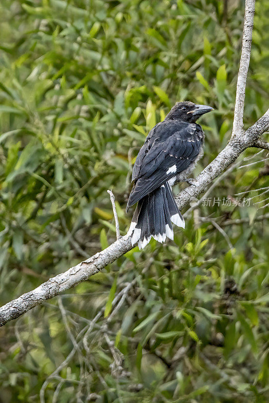
[[[137,156],[128,207],[187,169],[199,154],[202,130],[197,124],[169,121],[155,127]]]

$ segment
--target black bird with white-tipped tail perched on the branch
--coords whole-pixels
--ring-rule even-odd
[[[196,120],[212,111],[207,105],[177,102],[162,122],[148,133],[133,167],[126,212],[137,203],[130,228],[132,246],[143,249],[153,237],[174,240],[172,223],[185,228],[185,221],[172,193],[172,186],[188,182],[188,175],[203,156],[204,132]]]

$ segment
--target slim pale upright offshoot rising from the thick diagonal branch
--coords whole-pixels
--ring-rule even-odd
[[[236,86],[235,113],[232,138],[243,131],[243,114],[246,93],[247,72],[251,53],[255,0],[246,0],[242,51]]]

